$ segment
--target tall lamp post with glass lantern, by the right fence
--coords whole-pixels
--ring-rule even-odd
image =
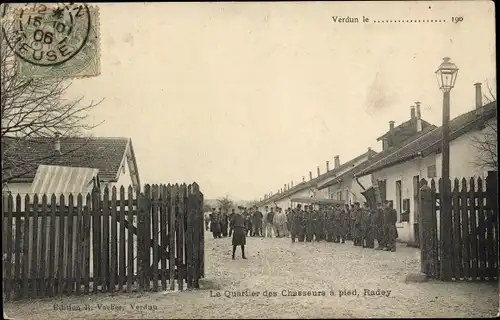
[[[450,181],[450,91],[455,86],[458,68],[443,58],[436,71],[439,88],[443,91],[443,140],[441,145],[440,247],[441,280],[451,280],[451,181]]]

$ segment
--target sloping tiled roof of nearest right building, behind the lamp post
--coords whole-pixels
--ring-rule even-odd
[[[477,128],[478,124],[486,120],[496,117],[497,104],[496,101],[491,102],[480,109],[474,109],[464,113],[450,121],[450,139],[456,139],[461,135]],[[481,116],[478,116],[481,115]],[[404,143],[403,147],[397,148],[390,153],[385,153],[385,156],[379,161],[372,162],[358,176],[367,175],[383,168],[413,159],[417,156],[426,156],[441,148],[442,127],[433,130],[423,130],[425,134],[412,139],[409,143]]]

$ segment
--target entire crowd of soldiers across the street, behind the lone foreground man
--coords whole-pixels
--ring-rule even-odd
[[[292,242],[327,241],[345,243],[352,241],[354,246],[376,250],[396,251],[397,212],[391,201],[378,203],[371,208],[368,203],[352,205],[305,205],[286,209],[265,207],[262,214],[257,207],[238,207],[238,216],[244,236],[288,237]],[[214,238],[231,236],[233,233],[235,210],[223,212],[221,208],[205,220],[206,229]],[[375,247],[375,240],[377,247]]]

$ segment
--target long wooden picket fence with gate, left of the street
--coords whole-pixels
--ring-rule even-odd
[[[198,288],[204,277],[198,185],[127,191],[5,196],[5,299]]]

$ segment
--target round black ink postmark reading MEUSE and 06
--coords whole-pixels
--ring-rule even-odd
[[[2,32],[12,51],[36,66],[57,66],[75,57],[91,30],[86,4],[5,5]]]

